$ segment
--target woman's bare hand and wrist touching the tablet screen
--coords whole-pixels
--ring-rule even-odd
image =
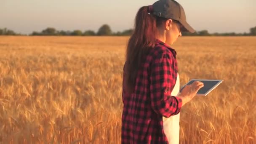
[[[179,96],[177,96],[182,99],[182,106],[187,102],[189,102],[197,94],[200,88],[202,88],[203,86],[204,86],[203,83],[200,81],[195,81],[190,85],[186,85],[182,89]]]

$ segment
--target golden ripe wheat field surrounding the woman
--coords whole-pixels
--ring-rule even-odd
[[[0,37],[0,144],[119,144],[128,37]],[[256,37],[180,37],[181,144],[256,143]]]

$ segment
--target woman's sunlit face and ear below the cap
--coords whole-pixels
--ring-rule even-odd
[[[172,45],[181,36],[181,24],[177,21],[168,20],[165,24],[165,43]]]

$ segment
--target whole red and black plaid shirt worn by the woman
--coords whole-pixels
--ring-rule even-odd
[[[176,51],[157,40],[138,71],[135,91],[128,94],[123,85],[122,144],[168,144],[163,117],[177,115],[182,106],[171,96],[177,73]]]

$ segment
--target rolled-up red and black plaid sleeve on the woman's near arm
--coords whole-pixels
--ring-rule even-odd
[[[173,57],[169,53],[157,53],[152,60],[150,73],[150,98],[152,109],[163,117],[177,115],[182,106],[182,100],[171,96],[176,83],[173,77]]]

